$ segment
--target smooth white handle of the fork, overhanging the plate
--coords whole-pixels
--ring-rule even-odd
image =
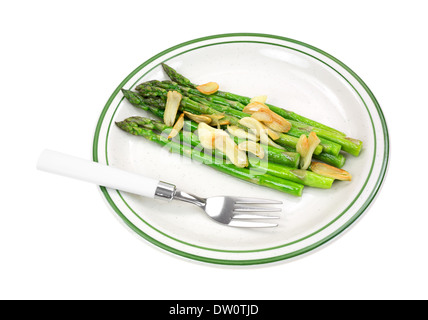
[[[37,169],[149,198],[155,197],[160,183],[156,179],[51,150],[42,152]]]

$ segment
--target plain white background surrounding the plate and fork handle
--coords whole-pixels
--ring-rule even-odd
[[[3,1],[1,299],[426,299],[424,1]],[[391,161],[370,210],[320,250],[236,268],[173,256],[132,233],[94,185],[35,168],[50,148],[91,158],[99,114],[158,52],[256,32],[318,47],[378,99]]]

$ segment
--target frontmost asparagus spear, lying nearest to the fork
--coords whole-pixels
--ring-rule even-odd
[[[197,162],[203,163],[211,168],[214,168],[241,180],[286,192],[294,196],[302,195],[304,188],[302,184],[284,180],[269,174],[257,174],[253,172],[254,170],[250,171],[247,168],[238,168],[233,164],[215,163],[211,156],[201,153],[196,149],[192,149],[189,146],[168,140],[167,138],[154,133],[152,130],[142,128],[133,122],[121,121],[116,122],[116,125],[122,130],[129,132],[133,135],[144,137],[147,140],[153,141],[161,146],[167,146],[173,153],[178,153],[183,156],[189,157]]]

